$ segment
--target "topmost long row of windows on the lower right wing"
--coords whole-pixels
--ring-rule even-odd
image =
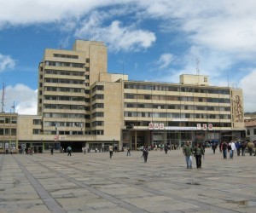
[[[173,92],[191,92],[191,93],[208,93],[208,94],[222,94],[230,95],[229,89],[202,89],[196,87],[186,86],[167,86],[167,85],[150,85],[150,84],[136,84],[125,83],[125,89],[145,89],[145,90],[159,90],[159,91],[173,91]]]

